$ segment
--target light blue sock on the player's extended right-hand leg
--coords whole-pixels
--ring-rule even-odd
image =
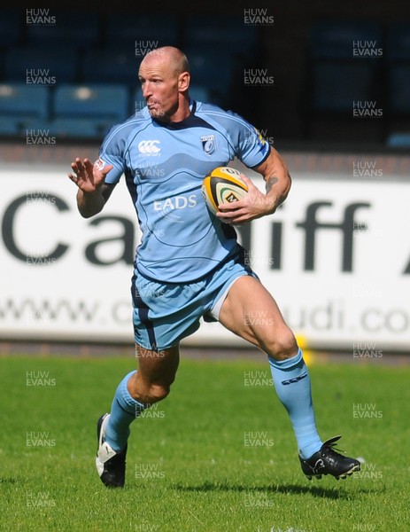
[[[286,360],[268,357],[276,393],[288,411],[290,422],[298,442],[302,458],[310,458],[321,449],[321,438],[317,433],[314,418],[309,372],[301,349],[298,354]]]

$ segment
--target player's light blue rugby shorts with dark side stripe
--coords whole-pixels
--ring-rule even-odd
[[[135,342],[151,350],[171,348],[197,331],[201,317],[218,321],[229,288],[244,275],[257,278],[239,254],[207,277],[182,285],[144,278],[135,269],[131,286]]]

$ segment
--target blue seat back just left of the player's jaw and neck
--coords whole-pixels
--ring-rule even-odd
[[[123,121],[129,114],[128,88],[100,83],[58,85],[53,102],[54,118],[87,118],[97,123]]]

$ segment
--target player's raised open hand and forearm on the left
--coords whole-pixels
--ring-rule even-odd
[[[68,177],[78,186],[77,207],[81,216],[89,218],[103,210],[109,199],[114,184],[105,184],[105,176],[113,168],[112,165],[104,166],[97,160],[92,164],[88,159],[81,161],[79,157],[71,164],[73,174]]]

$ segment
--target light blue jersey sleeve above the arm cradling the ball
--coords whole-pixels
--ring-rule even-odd
[[[231,120],[228,127],[236,157],[248,168],[258,166],[270,153],[270,145],[248,121],[228,111]]]

